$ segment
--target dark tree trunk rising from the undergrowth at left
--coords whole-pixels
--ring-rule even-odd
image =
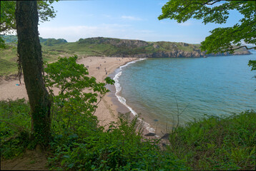
[[[36,1],[16,1],[18,55],[31,107],[32,137],[36,143],[46,146],[51,136],[51,100],[42,76],[38,21]]]

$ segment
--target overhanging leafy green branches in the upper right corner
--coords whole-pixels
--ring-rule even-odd
[[[243,18],[232,27],[215,28],[202,41],[202,51],[207,53],[229,52],[235,49],[256,49],[255,1],[220,0],[170,0],[162,7],[162,19],[174,19],[178,23],[189,19],[202,19],[202,23],[225,24],[231,10],[237,10]],[[248,48],[246,44],[252,44]]]

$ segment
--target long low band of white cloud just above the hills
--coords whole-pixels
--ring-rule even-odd
[[[200,43],[204,36],[186,36],[183,33],[162,33],[149,29],[136,29],[129,24],[99,24],[95,26],[39,26],[40,36],[43,38],[64,38],[69,42],[79,38],[109,37],[127,38],[142,41],[176,41],[186,43]]]

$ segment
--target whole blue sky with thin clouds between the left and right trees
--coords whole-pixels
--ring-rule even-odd
[[[230,13],[227,24],[202,24],[190,19],[176,21],[157,17],[166,0],[89,0],[54,2],[56,17],[39,24],[43,38],[64,38],[69,42],[79,38],[110,37],[143,41],[175,41],[200,43],[217,27],[233,26],[241,19]]]

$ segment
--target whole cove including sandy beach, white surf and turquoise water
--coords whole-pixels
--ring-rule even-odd
[[[204,114],[207,114],[207,111],[209,111],[212,115],[220,116],[229,115],[232,112],[241,112],[242,110],[252,109],[253,102],[241,105],[241,103],[237,103],[237,101],[239,101],[237,99],[237,95],[233,95],[236,98],[235,103],[237,104],[235,104],[234,102],[232,102],[232,100],[225,100],[225,93],[222,93],[222,95],[218,97],[217,90],[212,90],[213,92],[215,92],[215,94],[213,94],[215,98],[207,98],[207,95],[202,95],[202,92],[200,93],[200,90],[203,90],[205,92],[208,91],[209,93],[210,90],[207,90],[207,87],[209,87],[209,85],[207,85],[206,82],[201,83],[203,84],[203,86],[201,88],[198,88],[198,86],[196,85],[200,84],[200,82],[197,83],[197,81],[199,81],[200,79],[192,78],[196,81],[189,81],[188,79],[192,76],[191,74],[189,74],[189,72],[197,72],[197,77],[200,77],[198,75],[200,75],[200,73],[204,73],[203,70],[205,69],[203,67],[200,67],[200,65],[206,65],[206,63],[214,63],[215,65],[213,66],[219,65],[217,67],[219,68],[219,70],[222,67],[223,70],[218,71],[217,73],[219,74],[219,76],[222,76],[223,74],[225,74],[225,72],[227,72],[227,69],[229,67],[227,66],[227,62],[235,59],[237,62],[234,62],[233,60],[232,63],[229,62],[229,65],[234,66],[234,63],[237,63],[236,67],[239,68],[238,66],[240,66],[240,63],[242,62],[243,69],[246,70],[247,75],[245,79],[242,79],[241,71],[237,71],[236,68],[234,68],[233,71],[230,70],[227,72],[237,72],[237,79],[233,79],[231,80],[231,82],[233,82],[233,84],[235,83],[235,85],[240,84],[239,81],[240,79],[242,79],[241,83],[243,84],[243,86],[245,86],[247,81],[249,81],[251,85],[250,88],[248,89],[247,87],[246,90],[252,90],[255,82],[252,79],[253,73],[250,72],[250,68],[247,67],[247,61],[253,58],[256,58],[255,53],[250,56],[222,56],[209,58],[116,58],[91,56],[87,58],[80,58],[77,63],[82,63],[84,64],[84,66],[87,66],[89,76],[94,76],[99,82],[104,81],[104,78],[106,78],[107,76],[114,79],[115,81],[114,86],[107,85],[107,88],[111,90],[111,92],[107,93],[107,95],[104,95],[104,98],[102,98],[102,101],[98,104],[95,115],[97,115],[100,125],[108,128],[109,123],[117,122],[117,117],[119,113],[131,112],[131,116],[137,115],[139,113],[142,114],[141,118],[144,120],[144,134],[150,132],[157,133],[157,135],[162,136],[164,135],[164,133],[169,132],[172,129],[172,126],[175,126],[177,124],[176,100],[179,105],[179,113],[182,113],[182,115],[179,116],[179,122],[182,125],[184,125],[184,123],[187,123],[189,120],[193,120],[194,118],[202,118]],[[224,66],[220,66],[220,62],[224,63]],[[169,68],[172,68],[172,71],[167,71],[168,74],[165,74],[169,75],[170,73],[173,73],[172,79],[169,80],[169,78],[162,77],[165,80],[161,80],[161,76],[164,76],[164,71],[162,71],[162,67],[167,64],[169,65]],[[182,68],[184,66],[187,66],[187,68],[189,68],[188,65],[194,65],[191,68],[192,71],[186,71],[185,68]],[[160,66],[160,68],[157,68],[157,66]],[[207,68],[207,66],[205,67]],[[183,76],[185,76],[184,78],[187,79],[188,84],[184,83],[184,81],[182,80],[179,80],[179,78],[183,77],[179,77],[179,74],[175,73],[175,69],[177,69],[178,71],[180,69],[184,71],[184,73],[182,74]],[[230,67],[230,69],[232,69],[232,67]],[[153,73],[156,73],[156,75],[154,75]],[[231,76],[227,73],[223,75],[226,78]],[[228,83],[225,83],[225,86],[221,85],[222,81],[218,81],[218,78],[215,75],[211,74],[215,73],[211,73],[210,70],[205,71],[205,76],[207,76],[207,78],[213,78],[213,81],[218,83],[219,87],[228,87]],[[231,77],[234,78],[234,76]],[[189,85],[189,83],[191,83],[191,85]],[[165,86],[162,84],[164,84]],[[172,88],[172,90],[168,89],[168,84]],[[214,82],[212,84],[214,85]],[[21,78],[21,85],[17,85],[19,85],[18,80],[1,81],[0,100],[15,100],[16,98],[25,98],[26,100],[28,100],[23,78]],[[182,85],[185,85],[185,87],[182,88]],[[167,90],[169,93],[165,92],[165,95],[164,93],[159,93],[160,87],[162,87],[162,90]],[[206,89],[204,89],[205,87]],[[232,88],[235,89],[236,87],[237,86],[234,86]],[[195,90],[195,88],[197,90]],[[214,86],[211,88],[214,88]],[[157,93],[154,93],[154,91],[157,91]],[[190,91],[194,92],[195,94],[187,96]],[[238,89],[238,93],[239,91],[241,90]],[[57,92],[58,91],[56,90],[54,91],[54,93]],[[249,96],[250,99],[248,99],[247,97],[242,97],[245,98],[244,101],[253,101],[253,99],[256,100],[255,92],[253,92],[253,90],[246,93],[251,95]],[[227,93],[226,95],[230,94]],[[197,104],[191,103],[192,101],[196,102]],[[220,108],[219,104],[219,106],[214,111],[215,113],[212,113],[213,109],[210,109],[212,108],[210,105],[215,103],[215,105],[217,106],[217,102],[227,103],[230,105],[227,105],[227,108],[222,108],[218,110]],[[193,106],[194,108],[192,108]],[[184,110],[184,113],[182,112],[182,110]],[[200,114],[197,115],[195,113]]]

